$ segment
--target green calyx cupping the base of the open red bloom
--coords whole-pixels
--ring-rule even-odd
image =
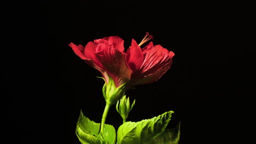
[[[106,103],[110,105],[117,103],[117,101],[124,96],[125,88],[126,83],[119,87],[115,87],[114,80],[109,76],[108,83],[105,82],[102,88],[102,93],[106,100]]]

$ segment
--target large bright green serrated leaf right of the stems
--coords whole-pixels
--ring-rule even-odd
[[[165,130],[173,111],[141,122],[126,122],[118,129],[118,144],[141,144],[157,137]]]

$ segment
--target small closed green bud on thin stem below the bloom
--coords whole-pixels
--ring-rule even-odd
[[[126,99],[126,95],[124,95],[124,97],[120,99],[120,102],[118,100],[115,108],[117,109],[117,112],[120,114],[120,116],[123,118],[123,123],[126,122],[129,112],[134,105],[135,100],[133,101],[132,105],[130,105],[130,99],[129,97]]]

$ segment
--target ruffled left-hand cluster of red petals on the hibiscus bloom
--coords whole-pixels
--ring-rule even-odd
[[[86,63],[99,70],[108,83],[109,76],[119,87],[130,80],[129,68],[124,51],[124,40],[119,37],[106,37],[90,41],[87,45],[69,44],[75,54]]]

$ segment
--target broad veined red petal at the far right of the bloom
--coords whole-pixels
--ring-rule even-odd
[[[143,49],[144,61],[140,70],[133,79],[132,85],[152,83],[160,79],[171,68],[173,52],[169,52],[161,45],[155,45],[151,49]]]

